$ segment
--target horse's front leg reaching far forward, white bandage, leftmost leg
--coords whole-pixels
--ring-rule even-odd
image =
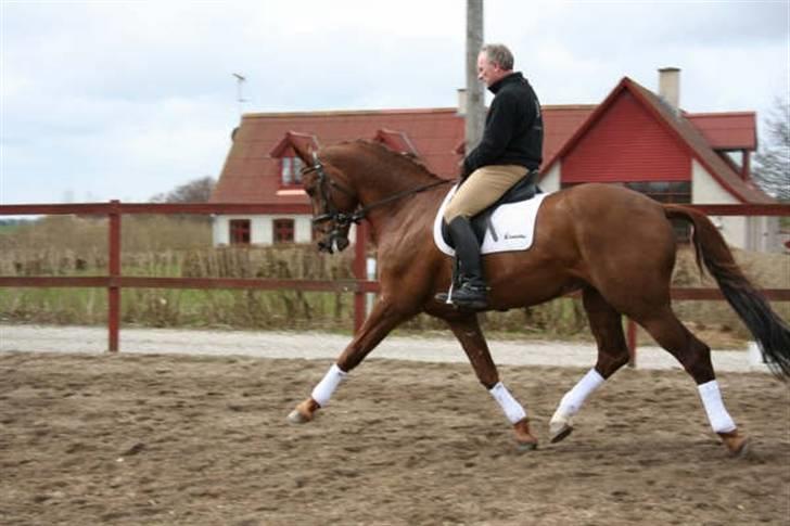
[[[323,379],[310,393],[310,397],[300,402],[288,415],[288,420],[294,424],[304,424],[311,421],[316,411],[327,407],[334,390],[340,386],[345,376],[365,359],[368,354],[386,336],[390,331],[409,318],[382,297],[373,307],[370,316],[362,323],[354,339],[343,350],[336,362],[329,368]]]

